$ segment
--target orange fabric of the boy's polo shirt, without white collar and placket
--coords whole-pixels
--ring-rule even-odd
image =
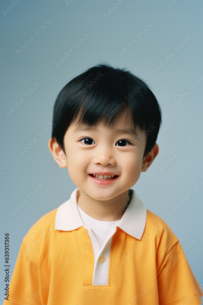
[[[130,202],[131,208],[136,200]],[[70,199],[66,205],[71,205]],[[9,301],[3,305],[201,304],[201,287],[178,238],[160,217],[146,210],[139,238],[117,226],[108,285],[92,285],[94,252],[88,230],[82,223],[71,230],[56,229],[58,209],[41,217],[25,235],[9,285]],[[74,219],[76,214],[69,217]]]

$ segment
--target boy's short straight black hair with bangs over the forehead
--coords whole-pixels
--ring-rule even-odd
[[[118,111],[127,106],[126,118],[130,108],[135,131],[138,126],[147,137],[144,158],[156,143],[161,108],[143,80],[107,64],[89,68],[59,92],[53,108],[52,139],[65,153],[63,139],[70,124],[111,127]]]

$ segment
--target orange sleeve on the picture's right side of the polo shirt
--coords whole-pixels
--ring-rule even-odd
[[[200,305],[201,288],[177,240],[157,272],[159,305]],[[186,303],[187,302],[187,303]]]

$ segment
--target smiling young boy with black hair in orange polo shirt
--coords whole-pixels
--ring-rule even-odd
[[[160,124],[154,94],[124,69],[94,66],[60,91],[49,149],[77,188],[25,235],[4,305],[201,304],[178,238],[132,189]]]

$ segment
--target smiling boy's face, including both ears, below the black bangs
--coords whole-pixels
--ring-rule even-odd
[[[158,154],[155,144],[143,159],[146,137],[138,138],[143,135],[138,128],[137,136],[120,131],[133,128],[130,114],[126,123],[125,117],[126,112],[122,109],[111,128],[99,124],[95,130],[82,130],[81,127],[75,130],[78,125],[71,124],[64,135],[66,156],[56,141],[49,140],[49,149],[56,162],[60,167],[67,167],[74,184],[96,200],[119,198],[138,181],[141,171],[146,171]],[[99,181],[91,176],[97,173],[110,173],[117,178]]]

